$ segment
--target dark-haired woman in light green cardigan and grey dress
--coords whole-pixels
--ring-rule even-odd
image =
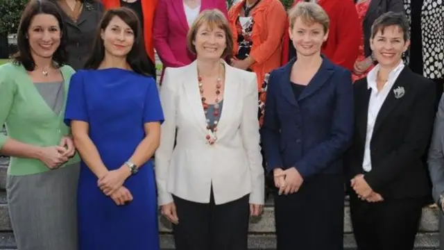
[[[63,123],[74,69],[65,63],[62,15],[30,1],[17,36],[19,53],[0,66],[0,153],[10,156],[6,191],[21,250],[76,250],[79,158]]]

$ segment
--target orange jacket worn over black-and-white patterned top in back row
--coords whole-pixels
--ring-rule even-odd
[[[236,23],[244,4],[245,0],[239,1],[228,11],[228,22],[234,39],[234,55],[239,48]],[[279,0],[261,0],[251,10],[250,15],[255,22],[251,35],[253,47],[250,56],[256,60],[251,69],[257,74],[257,87],[261,89],[265,74],[281,66],[282,38],[286,31],[287,12]]]

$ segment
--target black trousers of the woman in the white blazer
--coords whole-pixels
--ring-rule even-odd
[[[224,203],[196,203],[173,196],[179,224],[173,226],[177,250],[246,250],[249,195]]]

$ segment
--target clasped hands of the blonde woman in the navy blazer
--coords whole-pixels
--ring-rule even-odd
[[[304,182],[304,179],[299,174],[296,167],[290,167],[286,170],[281,168],[274,169],[273,176],[275,186],[276,188],[279,188],[279,195],[298,192],[300,186]]]

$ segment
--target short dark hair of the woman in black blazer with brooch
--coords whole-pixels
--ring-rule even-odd
[[[372,33],[370,38],[375,38],[375,35],[381,31],[384,34],[384,29],[388,26],[398,26],[402,31],[402,38],[404,42],[410,39],[409,34],[409,20],[404,13],[389,11],[380,15],[372,25]]]

